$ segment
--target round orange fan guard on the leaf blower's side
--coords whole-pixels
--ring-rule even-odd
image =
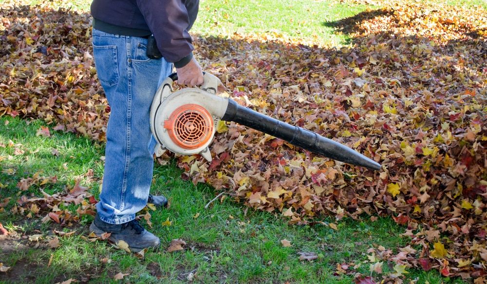
[[[213,118],[200,105],[185,104],[175,109],[164,121],[172,142],[185,149],[197,149],[206,144],[213,134]]]

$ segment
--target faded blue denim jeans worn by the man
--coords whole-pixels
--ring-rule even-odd
[[[151,60],[147,39],[93,29],[93,54],[111,108],[99,217],[110,224],[135,218],[149,197],[156,145],[150,132],[150,105],[172,63]]]

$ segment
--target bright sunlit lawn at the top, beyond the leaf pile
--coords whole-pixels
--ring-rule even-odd
[[[193,32],[220,36],[276,33],[279,37],[336,46],[348,36],[335,33],[323,23],[352,17],[366,9],[363,4],[335,0],[203,0]]]

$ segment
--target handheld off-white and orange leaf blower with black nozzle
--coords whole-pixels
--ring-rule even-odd
[[[211,161],[208,145],[221,119],[234,121],[340,162],[374,170],[381,168],[375,161],[345,145],[217,96],[220,80],[214,75],[204,73],[201,88],[184,88],[174,92],[172,83],[176,80],[176,73],[164,80],[150,108],[150,130],[157,142],[171,152],[201,154]]]

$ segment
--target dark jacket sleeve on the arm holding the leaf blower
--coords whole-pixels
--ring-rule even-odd
[[[136,0],[136,2],[151,33],[154,34],[157,47],[164,59],[175,63],[176,67],[178,63],[180,67],[186,65],[194,50],[188,30],[198,13],[198,0]]]

